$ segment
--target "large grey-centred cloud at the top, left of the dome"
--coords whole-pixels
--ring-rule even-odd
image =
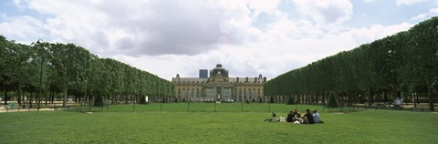
[[[199,3],[151,1],[133,7],[106,3],[99,5],[99,9],[109,16],[110,26],[136,37],[123,38],[115,44],[123,49],[121,53],[131,56],[195,55],[217,48],[221,36],[228,37],[231,44],[242,41],[232,36],[238,32],[221,33],[221,21],[230,16],[224,14],[224,8]]]

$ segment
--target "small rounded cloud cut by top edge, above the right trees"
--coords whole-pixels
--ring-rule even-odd
[[[353,14],[349,0],[294,0],[297,10],[320,25],[341,24]]]

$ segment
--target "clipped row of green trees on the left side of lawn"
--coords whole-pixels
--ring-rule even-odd
[[[5,92],[5,104],[9,91],[16,93],[20,105],[26,94],[29,102],[34,97],[40,104],[39,99],[45,98],[47,104],[62,93],[64,106],[69,96],[74,96],[76,102],[95,98],[99,104],[102,97],[112,103],[144,103],[146,96],[173,95],[170,81],[114,59],[99,58],[74,44],[38,40],[27,46],[0,36],[0,56],[0,87]]]

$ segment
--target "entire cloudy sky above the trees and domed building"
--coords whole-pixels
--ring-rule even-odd
[[[73,43],[171,80],[268,79],[438,15],[438,0],[2,0],[0,35]]]

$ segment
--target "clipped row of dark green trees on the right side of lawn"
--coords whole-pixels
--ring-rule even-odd
[[[424,94],[433,110],[437,80],[438,17],[433,17],[408,31],[291,70],[267,81],[264,90],[266,96],[309,103],[324,103],[333,91],[339,101],[351,104],[365,96],[369,105],[379,97],[390,101]]]

